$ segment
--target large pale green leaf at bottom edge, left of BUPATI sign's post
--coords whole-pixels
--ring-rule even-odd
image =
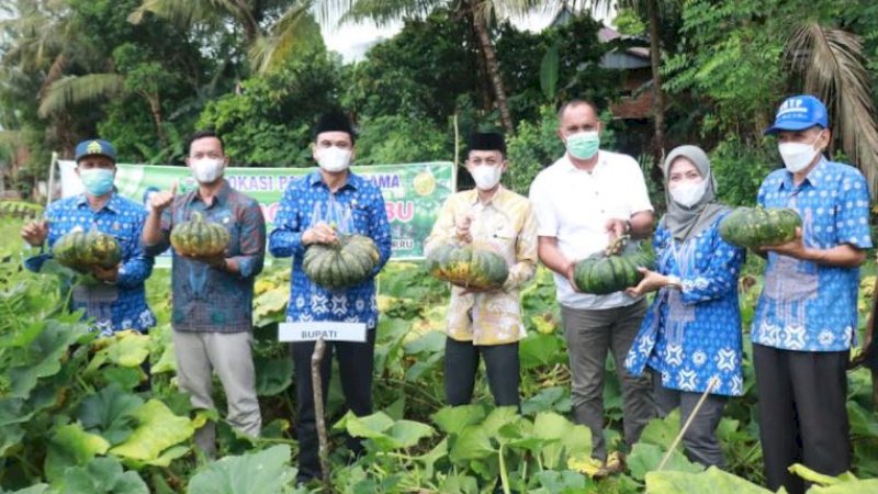
[[[192,476],[188,494],[280,494],[295,476],[290,447],[274,446],[256,453],[225,457]]]

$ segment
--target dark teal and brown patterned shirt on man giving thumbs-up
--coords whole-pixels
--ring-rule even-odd
[[[252,327],[254,279],[266,257],[266,221],[259,203],[224,181],[209,205],[198,190],[177,195],[161,215],[161,242],[147,248],[151,255],[169,246],[175,225],[199,212],[203,221],[229,234],[225,257],[238,272],[211,268],[205,262],[173,254],[171,325],[181,332],[241,333]]]

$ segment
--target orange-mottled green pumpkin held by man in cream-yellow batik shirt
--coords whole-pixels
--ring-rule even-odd
[[[503,256],[471,246],[441,245],[427,257],[430,274],[451,284],[477,290],[496,290],[509,277]]]

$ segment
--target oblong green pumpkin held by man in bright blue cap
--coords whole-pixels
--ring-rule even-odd
[[[796,238],[802,218],[787,207],[736,207],[720,222],[720,236],[744,248],[780,245]]]

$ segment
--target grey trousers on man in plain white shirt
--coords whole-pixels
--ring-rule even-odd
[[[592,429],[592,456],[599,460],[607,458],[604,440],[604,364],[608,351],[612,351],[622,384],[624,441],[629,448],[638,441],[646,423],[655,417],[650,374],[634,377],[624,369],[624,359],[645,313],[645,300],[601,310],[561,306],[573,374],[571,402],[574,419]]]

